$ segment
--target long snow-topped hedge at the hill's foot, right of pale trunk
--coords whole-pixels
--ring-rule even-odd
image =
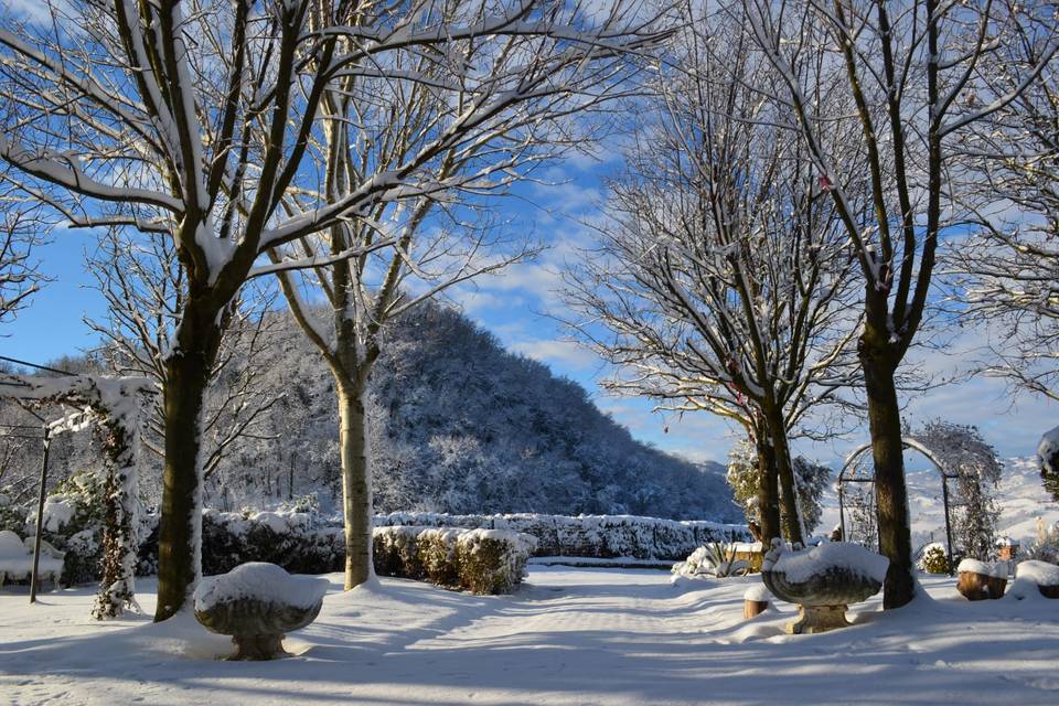
[[[681,560],[712,542],[748,542],[745,525],[676,521],[635,515],[448,515],[395,512],[376,515],[375,526],[512,530],[537,539],[534,556]]]

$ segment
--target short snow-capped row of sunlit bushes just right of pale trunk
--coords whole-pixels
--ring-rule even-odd
[[[510,593],[537,542],[510,530],[395,525],[375,527],[375,573],[427,579],[472,593]]]

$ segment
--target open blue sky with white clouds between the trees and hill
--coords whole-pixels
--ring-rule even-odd
[[[550,247],[532,263],[460,286],[448,298],[510,350],[539,360],[556,374],[582,384],[597,405],[637,438],[696,460],[724,461],[738,438],[736,429],[703,413],[683,418],[663,416],[652,413],[649,400],[608,396],[598,386],[608,373],[607,366],[570,341],[554,318],[564,314],[558,291],[560,271],[566,261],[578,256],[579,247],[591,246],[592,235],[582,221],[598,213],[603,195],[601,178],[613,168],[613,162],[575,159],[538,174],[549,184],[521,188],[522,199],[502,204],[511,210],[505,214],[513,217],[511,227],[532,228]],[[44,362],[93,345],[95,339],[83,318],[99,318],[104,311],[98,292],[86,286],[84,254],[93,247],[89,233],[62,232],[36,252],[53,281],[29,310],[0,331],[0,354]],[[916,355],[922,366],[937,373],[965,370],[987,336],[986,331],[961,331],[944,350]],[[1013,398],[1002,381],[983,376],[910,402],[906,418],[913,425],[934,417],[977,425],[1004,457],[1031,454],[1040,435],[1059,424],[1055,405],[1029,396]],[[860,429],[848,438],[802,445],[799,450],[833,464],[866,435],[867,430]]]

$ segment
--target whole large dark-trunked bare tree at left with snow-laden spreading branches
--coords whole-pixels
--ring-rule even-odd
[[[0,133],[0,159],[20,186],[73,226],[163,235],[184,271],[164,359],[157,620],[180,610],[199,577],[201,415],[233,302],[254,276],[322,264],[260,266],[259,258],[379,203],[452,188],[421,169],[517,106],[546,101],[554,84],[542,75],[635,50],[654,38],[649,24],[589,17],[569,3],[503,0],[86,0],[54,3],[47,26],[3,21],[2,95],[15,109]],[[464,61],[466,47],[482,61]],[[505,51],[524,71],[489,71],[510,67]],[[424,58],[440,76],[409,71],[402,57]],[[460,85],[473,98],[424,126],[430,137],[415,158],[396,169],[366,164],[359,183],[329,199],[297,182],[323,96],[347,76],[441,93]],[[295,192],[302,207],[291,214],[285,204]],[[376,239],[367,252],[391,245]],[[327,259],[365,254],[354,244]]]

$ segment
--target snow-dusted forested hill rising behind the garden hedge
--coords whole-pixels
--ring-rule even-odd
[[[236,445],[210,475],[205,501],[238,510],[315,494],[323,509],[336,509],[333,382],[295,322],[276,315],[272,345],[257,364],[264,365],[259,384],[279,399],[256,438]],[[370,399],[378,512],[740,518],[721,467],[697,466],[635,441],[579,385],[505,351],[449,308],[410,312],[389,330],[384,351]],[[63,362],[67,368],[77,363]],[[226,384],[222,376],[212,395]],[[58,461],[66,467],[60,473],[90,464],[93,457],[82,448]],[[143,488],[157,495],[160,469],[153,463]],[[26,472],[32,468],[28,463]]]

